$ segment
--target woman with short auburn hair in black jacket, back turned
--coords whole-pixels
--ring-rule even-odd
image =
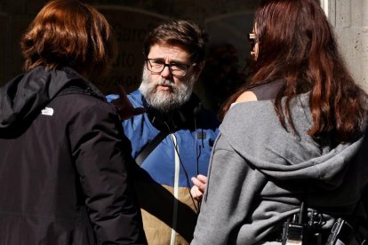
[[[116,108],[89,81],[116,52],[91,5],[50,1],[21,40],[26,73],[0,88],[0,244],[143,243]]]

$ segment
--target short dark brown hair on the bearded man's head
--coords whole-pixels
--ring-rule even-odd
[[[196,23],[188,20],[166,20],[148,33],[144,44],[147,57],[151,47],[157,43],[180,45],[190,54],[192,62],[204,62],[208,35]]]

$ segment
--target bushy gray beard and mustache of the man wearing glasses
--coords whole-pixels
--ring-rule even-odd
[[[150,71],[148,71],[147,67],[143,67],[142,82],[139,90],[150,107],[167,113],[177,109],[190,99],[195,82],[194,75],[188,77],[187,80],[182,81],[179,85],[164,78],[152,81]],[[172,91],[157,91],[156,87],[158,85],[170,86]]]

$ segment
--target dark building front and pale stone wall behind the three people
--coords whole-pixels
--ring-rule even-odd
[[[20,74],[20,36],[45,0],[0,0],[0,85]],[[247,34],[260,0],[87,0],[114,28],[119,54],[111,74],[99,81],[105,93],[118,84],[127,91],[140,84],[142,45],[158,21],[194,20],[210,34],[207,65],[196,84],[204,105],[217,110],[244,83],[249,63]],[[320,0],[335,28],[340,49],[356,81],[368,91],[368,0]]]

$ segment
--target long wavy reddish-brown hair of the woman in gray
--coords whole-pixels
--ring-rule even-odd
[[[249,88],[284,78],[286,83],[275,101],[284,127],[286,118],[294,129],[291,99],[310,91],[313,126],[309,135],[332,133],[339,142],[356,136],[366,113],[366,94],[349,74],[317,1],[262,1],[253,26],[259,54],[251,66],[250,83],[228,99],[223,112]]]

